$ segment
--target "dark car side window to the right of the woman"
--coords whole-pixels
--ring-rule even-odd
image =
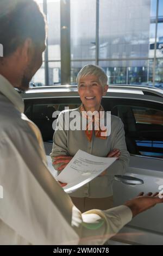
[[[163,111],[134,104],[114,106],[115,111],[123,121],[129,152],[163,159]]]

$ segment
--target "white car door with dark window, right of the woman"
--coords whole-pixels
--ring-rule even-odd
[[[156,98],[156,97],[155,97]],[[130,163],[126,175],[143,181],[140,185],[114,181],[114,203],[121,205],[139,192],[163,192],[163,103],[148,100],[105,99],[105,109],[118,115],[126,131]],[[156,102],[157,101],[157,102]],[[123,180],[125,181],[125,180]],[[163,245],[163,205],[136,216],[115,240],[144,245]]]

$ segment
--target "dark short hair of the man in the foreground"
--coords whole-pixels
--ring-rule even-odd
[[[36,46],[46,37],[46,19],[34,0],[0,0],[0,44],[8,57],[31,38]]]

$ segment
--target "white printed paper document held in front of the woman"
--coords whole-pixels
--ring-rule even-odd
[[[101,174],[116,159],[116,157],[93,156],[78,150],[56,179],[67,183],[63,188],[66,193],[71,193]]]

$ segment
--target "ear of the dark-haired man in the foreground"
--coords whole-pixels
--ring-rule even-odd
[[[29,59],[32,58],[33,51],[34,51],[34,48],[33,48],[32,39],[27,38],[21,47],[21,55],[25,63],[28,63]]]

